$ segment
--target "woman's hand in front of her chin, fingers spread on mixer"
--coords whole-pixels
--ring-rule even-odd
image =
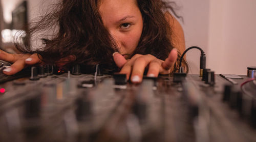
[[[165,61],[157,59],[151,54],[136,54],[129,60],[125,60],[125,58],[118,52],[113,54],[116,65],[121,69],[120,73],[126,74],[127,79],[129,79],[131,75],[131,81],[133,83],[142,81],[146,67],[148,67],[148,77],[157,77],[158,74],[169,74],[177,57],[178,52],[176,48],[170,51],[168,58],[166,58]]]

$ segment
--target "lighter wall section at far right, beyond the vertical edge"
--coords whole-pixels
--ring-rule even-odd
[[[211,0],[209,61],[217,73],[246,74],[256,66],[256,1]]]

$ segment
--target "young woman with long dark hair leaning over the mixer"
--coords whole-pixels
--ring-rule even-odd
[[[168,8],[161,0],[61,0],[27,32],[44,46],[33,50],[33,44],[18,44],[17,38],[22,54],[1,51],[0,59],[13,63],[3,72],[15,74],[38,63],[100,64],[104,72],[119,69],[134,83],[141,82],[145,69],[147,76],[173,73],[185,45]]]

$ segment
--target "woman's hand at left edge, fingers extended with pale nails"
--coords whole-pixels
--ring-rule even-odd
[[[6,75],[13,75],[29,65],[41,63],[38,55],[35,54],[10,54],[0,50],[0,60],[12,63],[9,68],[3,70]]]

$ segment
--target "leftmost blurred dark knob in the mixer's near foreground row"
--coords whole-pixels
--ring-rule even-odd
[[[41,109],[40,95],[25,100],[25,118],[38,118]]]

